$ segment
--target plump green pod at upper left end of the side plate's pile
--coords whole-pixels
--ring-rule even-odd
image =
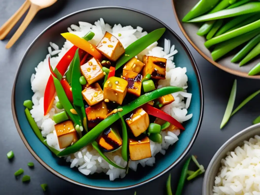
[[[191,20],[192,18],[195,18],[197,16],[200,16],[206,12],[208,12],[209,10],[211,10],[212,8],[215,7],[215,5],[217,5],[217,3],[219,2],[219,0],[212,0],[212,1],[208,1],[208,0],[200,0],[192,9],[191,11],[189,11],[189,13],[187,13],[182,21],[183,22],[187,22],[189,20]]]

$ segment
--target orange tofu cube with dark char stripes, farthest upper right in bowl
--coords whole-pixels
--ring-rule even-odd
[[[151,74],[153,79],[165,79],[166,72],[166,59],[154,56],[147,56],[144,58],[145,67],[143,69],[143,77]]]

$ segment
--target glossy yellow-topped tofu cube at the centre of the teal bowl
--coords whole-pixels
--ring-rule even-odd
[[[110,77],[104,85],[104,99],[121,105],[126,96],[127,86],[128,82],[125,79]]]

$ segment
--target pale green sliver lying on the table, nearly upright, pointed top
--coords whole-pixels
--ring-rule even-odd
[[[237,93],[237,80],[235,79],[230,96],[229,96],[228,105],[226,107],[225,114],[224,114],[222,122],[220,124],[220,129],[222,129],[226,125],[226,123],[228,122],[228,120],[231,116],[231,113],[232,113],[232,110],[234,107],[234,103],[235,103],[235,99],[236,99],[236,93]]]

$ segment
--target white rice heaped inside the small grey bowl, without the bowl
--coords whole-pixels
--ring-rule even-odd
[[[260,194],[260,136],[244,141],[221,160],[222,167],[215,178],[214,195]]]

